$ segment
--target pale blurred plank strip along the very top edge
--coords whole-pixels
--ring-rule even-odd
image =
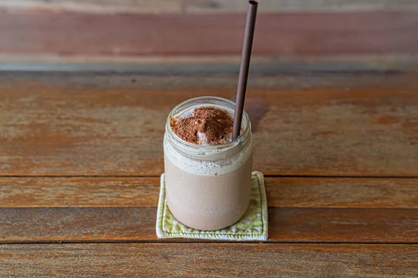
[[[245,12],[247,1],[241,0],[1,0],[0,8],[8,10],[80,11],[91,13],[224,13]],[[410,0],[320,0],[260,1],[259,10],[274,11],[339,11],[414,9],[417,3]]]

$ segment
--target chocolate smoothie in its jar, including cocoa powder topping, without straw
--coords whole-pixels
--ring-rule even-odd
[[[240,137],[231,141],[233,102],[196,98],[176,108],[164,137],[169,209],[194,229],[230,226],[249,205],[252,139],[248,115],[243,117]]]

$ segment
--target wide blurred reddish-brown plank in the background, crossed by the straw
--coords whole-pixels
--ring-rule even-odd
[[[236,13],[3,13],[0,53],[116,57],[239,55],[244,24],[245,15]],[[253,54],[417,54],[417,32],[418,13],[413,10],[260,13]]]

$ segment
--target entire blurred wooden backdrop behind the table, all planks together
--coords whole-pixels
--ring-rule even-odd
[[[254,64],[417,68],[417,0],[259,3]],[[236,65],[246,9],[246,0],[0,0],[0,69]]]

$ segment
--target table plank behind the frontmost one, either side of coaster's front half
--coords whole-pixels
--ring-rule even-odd
[[[160,241],[155,207],[0,208],[0,242]],[[269,208],[270,242],[418,243],[418,210]]]

